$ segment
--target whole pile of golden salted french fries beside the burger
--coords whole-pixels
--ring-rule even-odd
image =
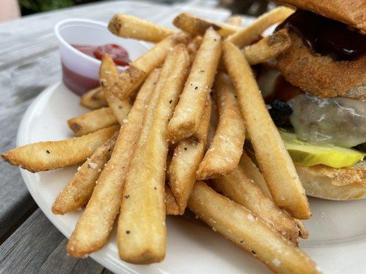
[[[320,273],[297,247],[308,200],[251,70],[289,47],[286,30],[262,33],[292,12],[277,8],[248,27],[184,13],[173,22],[180,30],[113,16],[113,34],[156,45],[122,73],[104,55],[100,87],[80,102],[91,111],[67,121],[75,138],[2,154],[32,172],[82,164],[52,207],[85,207],[71,256],[101,249],[119,214],[120,258],[161,262],[165,215],[188,208],[274,273]],[[255,159],[243,150],[246,132]]]

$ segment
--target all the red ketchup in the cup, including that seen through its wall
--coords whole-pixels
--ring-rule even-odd
[[[115,64],[118,66],[128,66],[130,63],[130,58],[128,57],[128,52],[126,49],[119,45],[110,44],[103,46],[88,46],[88,45],[71,45],[74,48],[78,49],[82,53],[85,53],[93,58],[102,60],[104,53],[108,53],[108,55],[113,59]],[[99,86],[99,81],[96,79],[92,79],[89,77],[85,77],[80,75],[75,71],[71,71],[70,69],[62,64],[62,80],[65,85],[76,92],[78,95],[82,95],[88,90],[92,88],[96,88]]]

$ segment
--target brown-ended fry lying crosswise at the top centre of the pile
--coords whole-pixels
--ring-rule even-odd
[[[183,30],[183,32],[187,32],[192,37],[205,34],[210,27],[222,37],[227,37],[242,29],[242,27],[198,18],[189,13],[181,13],[176,16],[173,25]]]

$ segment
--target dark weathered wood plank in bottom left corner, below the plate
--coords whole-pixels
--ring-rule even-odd
[[[0,274],[102,273],[104,268],[91,258],[67,256],[66,242],[38,209],[0,246]]]

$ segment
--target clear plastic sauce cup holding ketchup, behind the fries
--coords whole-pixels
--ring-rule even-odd
[[[117,37],[108,31],[105,23],[89,19],[71,18],[60,21],[54,31],[60,45],[62,80],[78,95],[99,85],[101,61],[78,51],[72,45],[117,44],[128,51],[130,60],[137,59],[148,50],[146,43]],[[119,66],[119,69],[123,71],[126,66]]]

